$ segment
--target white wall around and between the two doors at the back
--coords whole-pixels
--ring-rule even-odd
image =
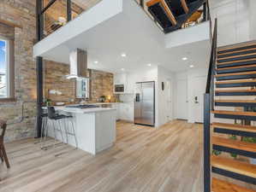
[[[198,85],[193,83],[193,79],[199,78],[199,77],[207,77],[208,69],[207,68],[192,68],[187,71],[175,73],[175,90],[177,90],[177,80],[178,79],[186,79],[188,81],[188,122],[189,123],[194,123],[194,108],[193,108],[193,90],[198,89]],[[206,82],[205,82],[205,87],[206,87]],[[176,91],[174,91],[174,117],[177,118],[177,94]]]

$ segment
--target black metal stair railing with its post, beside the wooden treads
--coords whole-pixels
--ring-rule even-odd
[[[211,110],[214,110],[214,75],[217,57],[217,19],[211,43],[211,58],[204,96],[204,192],[211,192]]]

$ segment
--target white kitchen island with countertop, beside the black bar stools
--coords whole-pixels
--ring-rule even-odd
[[[90,153],[110,148],[116,142],[116,109],[115,108],[67,108],[56,107],[59,113],[68,113],[73,116],[74,131],[77,137],[78,148]],[[49,125],[52,125],[51,123]],[[64,124],[62,124],[64,126]],[[72,131],[71,124],[66,121],[68,131]],[[53,129],[49,135],[54,136]],[[64,139],[66,139],[63,129]],[[57,139],[62,140],[57,131]],[[62,141],[66,143],[65,141]],[[68,144],[76,146],[73,136],[68,135]]]

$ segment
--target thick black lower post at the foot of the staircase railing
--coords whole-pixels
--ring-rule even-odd
[[[204,192],[211,192],[210,94],[204,96]]]

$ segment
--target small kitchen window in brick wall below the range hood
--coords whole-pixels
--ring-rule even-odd
[[[90,79],[76,80],[76,98],[89,99],[90,97]]]

